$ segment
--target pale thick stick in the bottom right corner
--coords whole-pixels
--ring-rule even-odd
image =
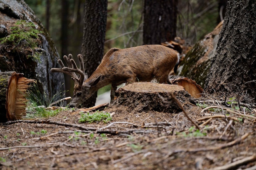
[[[254,154],[252,156],[248,156],[248,157],[246,157],[244,159],[240,159],[238,161],[232,162],[230,164],[226,164],[226,165],[223,165],[223,166],[212,168],[211,170],[236,169],[240,165],[244,165],[244,164],[246,164],[248,162],[253,162],[255,160],[256,160],[256,154]]]

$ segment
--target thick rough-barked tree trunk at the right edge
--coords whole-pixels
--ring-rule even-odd
[[[204,90],[216,97],[252,102],[256,96],[256,3],[229,0],[226,11]]]

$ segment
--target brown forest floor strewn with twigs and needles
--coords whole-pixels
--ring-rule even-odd
[[[255,112],[231,101],[201,113],[212,101],[184,107],[200,130],[180,111],[115,102],[103,110],[112,116],[106,123],[79,123],[76,109],[0,124],[0,169],[255,169]]]

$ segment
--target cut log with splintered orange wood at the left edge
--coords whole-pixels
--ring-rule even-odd
[[[0,72],[0,122],[21,119],[26,113],[26,91],[33,79],[15,71]]]

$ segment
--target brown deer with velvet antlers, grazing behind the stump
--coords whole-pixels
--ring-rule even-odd
[[[61,68],[51,68],[51,72],[68,74],[74,81],[73,97],[69,107],[80,107],[99,88],[109,84],[111,84],[111,103],[117,86],[122,83],[150,82],[155,78],[158,83],[171,84],[168,78],[170,71],[180,60],[177,51],[163,45],[111,48],[88,78],[84,71],[83,56],[77,55],[80,69],[72,57],[72,54],[68,57],[64,55],[67,67],[59,59]]]

